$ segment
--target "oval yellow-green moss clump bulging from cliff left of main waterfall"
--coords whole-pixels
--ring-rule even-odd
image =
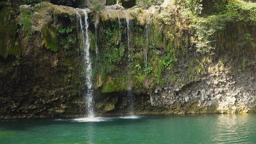
[[[57,30],[51,26],[51,24],[46,24],[43,29],[43,38],[44,38],[44,45],[46,48],[50,49],[51,51],[57,52]]]

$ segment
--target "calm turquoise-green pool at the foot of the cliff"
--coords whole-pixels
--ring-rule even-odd
[[[0,144],[256,144],[256,115],[0,121]]]

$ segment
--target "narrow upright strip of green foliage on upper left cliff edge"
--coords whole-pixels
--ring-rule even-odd
[[[31,14],[32,12],[28,9],[22,9],[21,10],[21,21],[19,22],[19,25],[22,26],[22,29],[27,34],[27,41],[30,41],[30,28],[31,28]]]

